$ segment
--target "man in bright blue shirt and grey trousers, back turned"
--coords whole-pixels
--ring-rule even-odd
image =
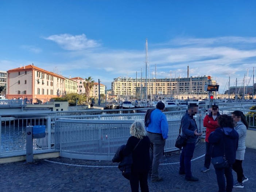
[[[150,139],[151,182],[163,180],[163,177],[158,175],[158,167],[163,158],[165,140],[168,138],[168,122],[163,114],[164,107],[163,102],[156,104],[156,109],[151,112],[150,122],[146,127]]]

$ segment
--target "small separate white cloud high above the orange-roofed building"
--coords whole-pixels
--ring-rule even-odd
[[[94,48],[100,46],[96,40],[86,38],[85,34],[82,35],[70,35],[70,34],[61,34],[61,35],[51,35],[47,40],[52,40],[59,44],[65,50],[83,50],[88,48]]]

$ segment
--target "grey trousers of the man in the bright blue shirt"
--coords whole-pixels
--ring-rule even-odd
[[[150,139],[150,173],[152,172],[151,180],[154,180],[158,177],[158,167],[162,161],[165,141],[163,140],[162,135],[159,134],[147,132],[147,136]]]

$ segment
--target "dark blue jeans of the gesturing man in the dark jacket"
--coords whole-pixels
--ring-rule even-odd
[[[191,173],[191,159],[195,150],[195,143],[187,143],[185,147],[182,148],[181,156],[179,157],[179,171],[185,172],[185,177],[190,178]]]

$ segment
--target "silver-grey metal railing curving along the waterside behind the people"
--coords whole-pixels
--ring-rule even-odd
[[[241,110],[247,114],[251,107],[251,105],[245,106],[237,103],[234,105],[220,104],[220,113],[226,114],[234,110]],[[132,122],[135,119],[144,120],[146,110],[146,108],[142,108],[136,110],[47,111],[26,113],[23,115],[27,117],[18,119],[10,117],[8,119],[7,115],[14,117],[20,113],[0,114],[0,157],[26,154],[26,126],[46,125],[46,137],[34,139],[35,151],[60,150],[61,154],[65,156],[72,154],[73,158],[79,156],[79,158],[86,159],[95,159],[96,157],[100,160],[109,159],[118,146],[126,143],[130,136],[129,126]],[[174,144],[178,136],[180,119],[184,113],[185,110],[164,112],[169,124],[165,152],[177,150]],[[200,109],[197,125],[199,132],[203,134],[205,134],[203,127],[205,115],[206,110]],[[250,128],[256,128],[256,116],[248,114],[246,117]]]

